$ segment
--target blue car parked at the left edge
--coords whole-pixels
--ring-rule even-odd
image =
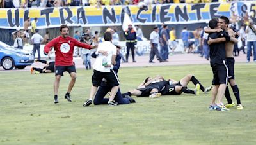
[[[24,69],[26,66],[33,64],[34,56],[31,52],[13,48],[0,41],[0,66],[5,70]]]

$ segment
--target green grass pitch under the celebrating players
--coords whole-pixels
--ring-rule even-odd
[[[72,102],[64,99],[70,81],[65,73],[60,103],[54,104],[54,74],[0,72],[0,144],[255,144],[256,66],[236,64],[235,69],[244,109],[225,112],[209,111],[211,94],[202,92],[83,107],[92,85],[92,71],[84,69],[77,69]],[[121,67],[118,76],[121,92],[127,92],[147,76],[179,80],[189,73],[211,85],[209,65]]]

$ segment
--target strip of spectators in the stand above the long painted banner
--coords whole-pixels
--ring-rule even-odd
[[[112,5],[138,5],[139,7],[150,4],[168,3],[211,3],[229,2],[231,0],[0,0],[0,8],[31,8],[58,7],[58,6],[112,6]]]

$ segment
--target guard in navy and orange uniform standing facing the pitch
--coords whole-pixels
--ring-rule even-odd
[[[137,44],[137,38],[136,38],[136,32],[134,31],[134,29],[132,29],[131,24],[128,25],[128,29],[124,32],[124,37],[126,39],[126,47],[127,47],[126,62],[128,62],[130,48],[132,50],[132,60],[133,62],[136,62],[134,59],[134,48],[135,48],[135,45]]]

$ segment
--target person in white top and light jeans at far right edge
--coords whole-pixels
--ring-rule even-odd
[[[247,34],[247,60],[250,62],[250,55],[253,47],[253,61],[256,62],[256,25],[253,23],[253,20],[249,20],[247,23],[245,32]]]

